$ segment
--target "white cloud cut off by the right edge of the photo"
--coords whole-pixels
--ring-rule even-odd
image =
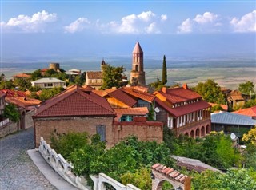
[[[230,24],[234,26],[234,32],[256,32],[256,10],[245,14],[241,19],[233,18]]]

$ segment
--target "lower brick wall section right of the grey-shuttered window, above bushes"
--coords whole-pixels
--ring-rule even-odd
[[[146,121],[146,117],[134,117],[134,121],[115,121],[113,125],[114,143],[134,135],[139,141],[162,142],[163,124],[159,121]]]

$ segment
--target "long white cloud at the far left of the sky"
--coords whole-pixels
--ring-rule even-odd
[[[20,14],[16,18],[10,18],[8,22],[1,22],[3,30],[15,32],[44,32],[47,22],[55,22],[57,14],[49,14],[46,10],[33,14],[32,17]]]

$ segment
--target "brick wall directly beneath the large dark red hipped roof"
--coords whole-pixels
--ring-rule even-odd
[[[50,143],[52,133],[87,132],[93,135],[96,134],[97,125],[106,125],[106,146],[110,147],[114,144],[112,123],[113,117],[34,118],[35,146],[39,146],[40,137]]]

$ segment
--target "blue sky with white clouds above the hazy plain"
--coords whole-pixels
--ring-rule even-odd
[[[1,61],[131,56],[256,59],[256,2],[1,0]]]

